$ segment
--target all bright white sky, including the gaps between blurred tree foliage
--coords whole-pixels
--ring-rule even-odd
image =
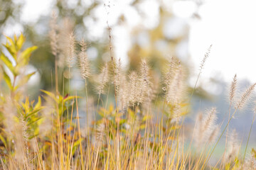
[[[26,0],[26,5],[21,15],[22,21],[33,23],[39,16],[49,15],[49,9],[53,5],[52,2],[52,0]],[[146,0],[139,7],[147,15],[147,18],[143,21],[142,18],[139,18],[137,11],[129,6],[131,2],[132,0],[122,2],[113,0],[112,4],[114,6],[112,6],[109,16],[111,24],[111,22],[114,23],[112,18],[117,18],[120,13],[123,13],[129,23],[129,26],[117,26],[112,29],[112,34],[115,37],[113,44],[117,46],[115,52],[122,57],[122,60],[127,57],[127,51],[132,42],[129,38],[129,31],[132,26],[142,22],[145,26],[154,26],[154,23],[157,24],[158,22],[156,16],[159,13],[157,9],[159,6],[156,0]],[[163,0],[162,2],[166,3],[167,6],[171,0]],[[191,63],[193,63],[191,65],[195,68],[195,74],[198,73],[198,66],[204,53],[212,44],[212,51],[206,61],[203,77],[218,77],[219,79],[230,81],[234,74],[238,74],[240,79],[250,79],[250,81],[256,82],[255,0],[208,0],[198,12],[201,20],[189,19],[196,10],[196,4],[193,1],[172,2],[174,4],[170,6],[171,10],[177,17],[185,18],[190,26],[188,52],[191,56]],[[99,11],[102,11],[102,13]],[[85,18],[84,23],[92,25],[91,35],[100,36],[103,33],[100,28],[106,26],[106,11],[101,6],[95,9],[95,13],[99,16],[98,18],[102,18],[102,23],[92,23],[90,17]],[[152,24],[149,25],[149,23]],[[13,29],[15,28],[22,30],[19,26],[14,26]],[[178,27],[176,28],[178,29]],[[99,31],[95,33],[95,30]],[[173,31],[176,33],[175,30]]]

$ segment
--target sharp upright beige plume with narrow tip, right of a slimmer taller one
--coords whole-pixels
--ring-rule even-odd
[[[85,40],[80,42],[81,51],[78,54],[79,57],[79,66],[80,66],[80,74],[82,79],[86,79],[90,77],[90,62],[86,53],[86,43]]]

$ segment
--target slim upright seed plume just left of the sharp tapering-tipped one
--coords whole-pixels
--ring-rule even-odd
[[[69,68],[73,67],[75,60],[75,35],[70,33],[68,40],[68,56],[67,56],[67,65]]]

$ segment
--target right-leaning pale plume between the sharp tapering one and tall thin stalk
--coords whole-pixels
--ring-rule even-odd
[[[108,66],[107,63],[102,68],[101,73],[97,77],[97,94],[105,94],[105,86],[107,85],[107,82],[109,81],[109,73],[108,73]]]

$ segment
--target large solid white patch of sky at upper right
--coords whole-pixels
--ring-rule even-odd
[[[210,44],[204,75],[256,82],[256,1],[212,0],[201,7],[201,21],[191,23],[189,51],[199,64]]]

